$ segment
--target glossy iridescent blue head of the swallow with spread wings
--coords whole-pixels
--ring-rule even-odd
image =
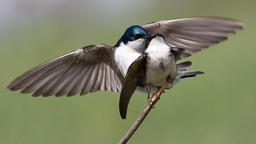
[[[124,35],[118,40],[114,47],[119,46],[121,42],[126,45],[127,43],[140,38],[148,38],[148,31],[140,26],[131,26],[126,29]]]

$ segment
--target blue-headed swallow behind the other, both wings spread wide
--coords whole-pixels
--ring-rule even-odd
[[[81,92],[120,92],[127,69],[143,52],[148,34],[163,34],[170,47],[185,48],[189,57],[243,28],[238,20],[216,17],[184,18],[127,28],[115,46],[89,45],[49,60],[13,80],[7,89],[34,97],[73,96]]]

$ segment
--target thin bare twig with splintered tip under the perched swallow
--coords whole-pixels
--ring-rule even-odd
[[[178,71],[176,71],[174,74],[172,74],[172,76],[170,77],[170,80],[172,81],[176,76],[178,76]],[[156,104],[156,102],[159,100],[160,95],[164,92],[164,90],[166,89],[166,87],[168,86],[169,83],[170,83],[170,81],[166,80],[166,82],[159,88],[158,92],[156,92],[156,93],[154,92],[154,94],[151,98],[151,100],[153,100],[153,102],[150,102],[150,104],[152,106],[154,106]],[[140,124],[146,118],[146,116],[148,115],[148,113],[150,112],[151,109],[152,108],[147,106],[142,111],[142,113],[140,114],[138,119],[135,121],[135,123],[132,125],[132,127],[129,129],[129,131],[124,135],[122,140],[119,141],[118,144],[125,144],[132,137],[133,133],[139,128]]]

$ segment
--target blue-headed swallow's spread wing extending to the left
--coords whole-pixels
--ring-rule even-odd
[[[114,48],[89,45],[49,60],[13,80],[7,89],[33,96],[73,96],[81,92],[120,92],[124,77],[114,66]]]

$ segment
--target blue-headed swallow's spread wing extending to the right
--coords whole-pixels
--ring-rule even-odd
[[[148,34],[160,33],[170,47],[185,48],[181,58],[191,56],[211,45],[218,44],[244,27],[238,20],[218,17],[196,17],[162,20],[142,26]]]

